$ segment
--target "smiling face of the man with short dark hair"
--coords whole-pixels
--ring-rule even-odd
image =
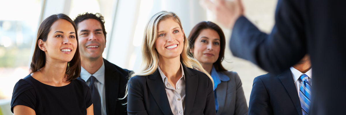
[[[78,24],[78,34],[81,58],[102,58],[106,38],[101,23],[95,19],[84,20]]]

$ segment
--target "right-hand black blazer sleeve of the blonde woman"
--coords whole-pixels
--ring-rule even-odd
[[[206,108],[204,108],[204,115],[216,115],[215,110],[215,98],[214,98],[214,91],[213,91],[213,83],[210,79],[208,79],[208,89],[207,89],[207,102],[206,102]]]

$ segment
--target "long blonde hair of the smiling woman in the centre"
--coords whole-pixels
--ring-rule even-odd
[[[168,19],[168,18],[173,18],[173,20],[180,25],[180,28],[183,29],[181,26],[180,18],[173,12],[161,11],[156,13],[153,17],[151,17],[147,25],[145,26],[145,30],[144,30],[144,37],[142,42],[142,58],[143,58],[142,64],[140,65],[139,71],[137,71],[136,73],[132,73],[129,79],[134,76],[151,75],[156,71],[158,62],[159,62],[158,52],[155,50],[155,46],[154,46],[154,43],[157,39],[157,26],[160,21]],[[186,67],[194,68],[207,74],[207,76],[211,79],[211,82],[214,86],[214,81],[209,75],[209,73],[203,69],[202,65],[199,63],[197,59],[190,57],[189,48],[190,48],[189,40],[186,38],[184,33],[184,46],[183,46],[183,51],[180,54],[180,61]],[[127,97],[127,94],[128,94],[128,88],[126,86],[126,93],[124,98]],[[121,99],[124,99],[124,98],[121,98]]]

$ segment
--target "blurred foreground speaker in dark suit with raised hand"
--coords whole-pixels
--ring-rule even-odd
[[[233,28],[230,49],[234,56],[279,74],[309,53],[314,69],[310,114],[345,114],[345,0],[279,0],[270,35],[243,16],[241,0],[214,1],[201,4],[223,26]]]

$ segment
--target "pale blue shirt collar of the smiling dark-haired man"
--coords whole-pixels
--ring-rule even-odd
[[[90,76],[94,76],[101,84],[104,84],[104,62],[102,60],[102,66],[94,74],[90,74],[83,67],[81,67],[81,78],[86,82]]]

